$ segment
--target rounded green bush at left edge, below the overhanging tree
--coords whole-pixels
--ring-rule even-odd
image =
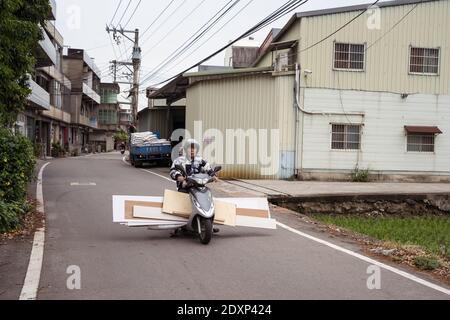
[[[21,134],[0,129],[0,201],[24,203],[36,160],[32,143]]]

